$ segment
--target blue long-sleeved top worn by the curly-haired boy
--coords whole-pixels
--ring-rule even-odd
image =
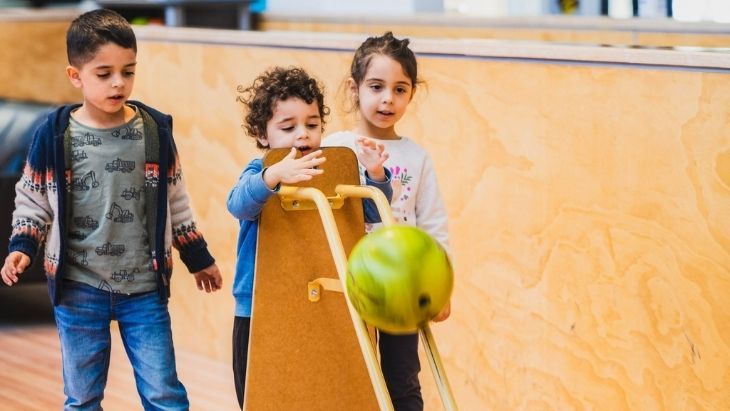
[[[238,219],[240,225],[236,251],[236,275],[233,278],[236,317],[251,316],[259,216],[266,201],[276,193],[264,182],[263,171],[263,161],[261,159],[252,160],[228,195],[228,211]],[[365,180],[367,185],[380,189],[390,202],[393,198],[390,170],[385,169],[385,175],[386,179],[383,182],[373,181],[367,175]],[[363,200],[363,212],[366,223],[380,222],[380,214],[372,200]]]

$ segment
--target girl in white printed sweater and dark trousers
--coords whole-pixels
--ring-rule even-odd
[[[396,39],[391,32],[368,38],[355,51],[347,80],[360,121],[354,130],[334,133],[322,145],[350,147],[358,156],[361,153],[355,142],[361,136],[385,146],[390,155],[385,167],[392,173],[394,217],[398,223],[425,230],[448,250],[446,210],[431,158],[426,150],[395,130],[418,84],[416,57],[408,47],[408,39]],[[445,320],[450,312],[447,304],[433,321]],[[422,410],[418,334],[380,331],[379,335],[381,366],[393,406],[396,411]]]

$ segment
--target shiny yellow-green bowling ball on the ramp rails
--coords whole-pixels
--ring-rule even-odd
[[[381,227],[353,247],[347,295],[362,319],[391,334],[410,334],[446,305],[454,287],[441,245],[412,226]]]

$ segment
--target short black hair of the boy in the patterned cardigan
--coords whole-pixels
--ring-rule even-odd
[[[98,9],[77,17],[66,32],[66,53],[72,66],[81,67],[94,58],[99,47],[114,43],[137,52],[137,38],[129,22],[119,13]]]

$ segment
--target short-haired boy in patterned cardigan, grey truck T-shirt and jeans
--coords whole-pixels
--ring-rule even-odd
[[[82,14],[66,42],[83,104],[59,108],[35,132],[0,273],[15,284],[46,242],[64,409],[101,409],[116,320],[144,409],[186,410],[167,308],[171,247],[199,289],[218,290],[221,275],[193,220],[172,118],[127,100],[137,43],[119,14]]]

